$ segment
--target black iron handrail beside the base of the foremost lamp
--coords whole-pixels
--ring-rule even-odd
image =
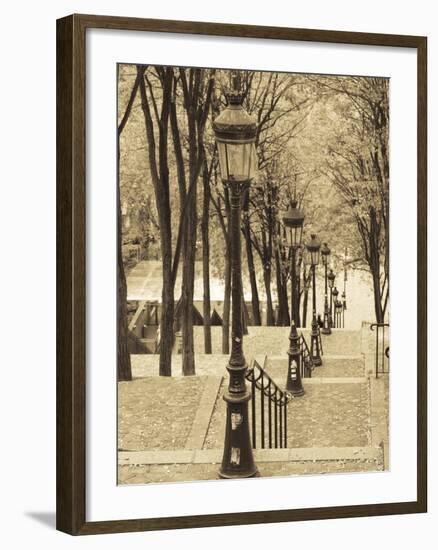
[[[267,357],[264,366],[266,367]],[[255,359],[246,372],[251,385],[251,435],[254,449],[287,447],[289,392],[281,390]]]

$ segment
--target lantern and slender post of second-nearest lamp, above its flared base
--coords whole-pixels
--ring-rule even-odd
[[[304,213],[297,208],[294,199],[287,211],[283,214],[283,224],[286,228],[286,242],[291,251],[291,320],[298,326],[298,297],[297,297],[297,250],[301,246],[303,237]]]

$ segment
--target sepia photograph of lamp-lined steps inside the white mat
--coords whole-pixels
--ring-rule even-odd
[[[389,94],[118,64],[118,484],[390,469]]]

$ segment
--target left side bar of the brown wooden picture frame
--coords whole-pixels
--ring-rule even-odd
[[[57,528],[85,523],[85,50],[57,23]]]

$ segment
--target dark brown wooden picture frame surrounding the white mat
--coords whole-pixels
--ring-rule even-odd
[[[417,52],[417,499],[411,502],[263,510],[184,517],[86,521],[87,29],[413,48]],[[340,32],[71,15],[57,21],[57,529],[72,535],[347,518],[427,511],[427,39]]]

